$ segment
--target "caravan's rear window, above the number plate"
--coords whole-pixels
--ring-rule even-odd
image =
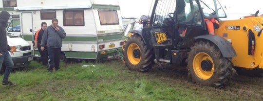
[[[98,10],[100,25],[119,24],[117,11]]]

